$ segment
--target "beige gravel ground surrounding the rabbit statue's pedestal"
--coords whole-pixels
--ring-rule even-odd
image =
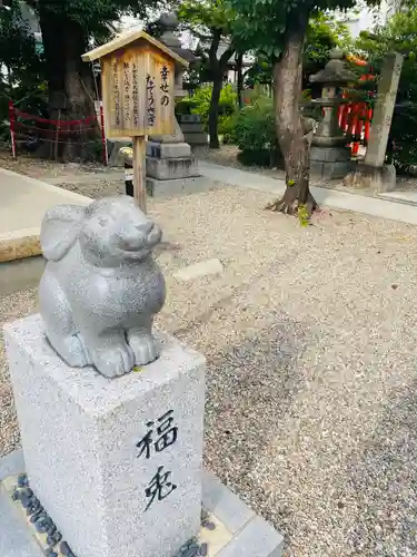
[[[286,557],[415,556],[417,228],[328,211],[301,228],[268,201],[149,204],[166,231],[158,325],[208,359],[205,463],[284,532]],[[221,275],[173,278],[212,257]],[[34,303],[8,296],[1,320]],[[19,439],[0,369],[4,453]]]

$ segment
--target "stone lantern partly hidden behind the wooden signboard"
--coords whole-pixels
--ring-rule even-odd
[[[160,41],[188,62],[197,58],[181,48],[175,31],[178,19],[175,13],[162,13],[159,23],[163,29]],[[182,70],[176,72],[176,98],[185,96]],[[207,189],[210,184],[198,170],[191,147],[185,141],[181,128],[175,118],[173,135],[150,135],[147,144],[147,190],[149,195],[178,195]]]

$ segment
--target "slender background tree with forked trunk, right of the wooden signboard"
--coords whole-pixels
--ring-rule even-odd
[[[218,116],[220,92],[230,58],[239,51],[234,35],[235,11],[226,0],[187,0],[180,6],[179,19],[199,41],[206,58],[208,79],[212,81],[209,111],[210,147],[219,148]],[[240,49],[241,52],[241,49]],[[205,61],[205,60],[203,60]]]

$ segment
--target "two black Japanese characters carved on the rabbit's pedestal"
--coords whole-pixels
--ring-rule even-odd
[[[172,413],[173,411],[169,410],[157,420],[147,422],[148,431],[137,443],[138,458],[150,459],[153,452],[161,452],[177,441],[178,427],[173,423]],[[145,490],[148,500],[145,510],[148,510],[153,501],[161,501],[177,489],[177,486],[170,481],[170,476],[169,470],[163,471],[163,466],[158,467],[156,475]]]

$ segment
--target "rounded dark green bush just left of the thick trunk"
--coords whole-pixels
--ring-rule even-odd
[[[240,149],[239,159],[244,164],[272,167],[280,163],[274,104],[269,97],[258,97],[252,105],[240,110],[232,139]]]

